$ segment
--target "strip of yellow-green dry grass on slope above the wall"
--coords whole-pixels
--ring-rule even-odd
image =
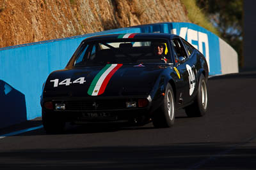
[[[181,0],[181,2],[186,7],[189,20],[191,20],[193,24],[200,25],[201,27],[204,27],[217,36],[220,36],[220,32],[218,32],[218,30],[211,24],[207,17],[205,17],[204,12],[202,11],[203,9],[200,9],[198,6],[196,6],[195,0]]]

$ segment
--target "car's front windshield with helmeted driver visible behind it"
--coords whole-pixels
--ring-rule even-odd
[[[104,64],[170,63],[169,52],[167,41],[163,39],[85,41],[79,46],[68,65],[76,67]]]

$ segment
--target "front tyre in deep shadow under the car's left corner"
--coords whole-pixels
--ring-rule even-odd
[[[50,115],[49,113],[42,111],[42,123],[44,125],[44,130],[50,134],[61,133],[64,130],[65,122],[60,120],[60,118],[55,115]]]

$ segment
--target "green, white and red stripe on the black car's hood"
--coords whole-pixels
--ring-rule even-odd
[[[107,64],[93,79],[88,89],[88,94],[91,96],[102,94],[105,91],[110,78],[122,65],[123,64]]]

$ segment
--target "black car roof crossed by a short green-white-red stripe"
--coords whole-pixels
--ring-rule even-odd
[[[95,40],[108,40],[108,39],[127,39],[127,38],[136,38],[136,39],[171,39],[175,34],[166,34],[166,33],[125,33],[125,34],[106,34],[100,36],[92,36],[84,39],[84,41],[95,41]]]

